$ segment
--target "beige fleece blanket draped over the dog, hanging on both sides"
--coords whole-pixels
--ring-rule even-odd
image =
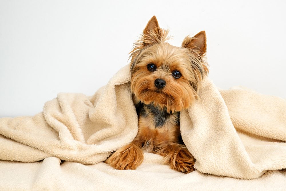
[[[199,97],[180,112],[181,135],[199,172],[253,179],[286,168],[284,99],[242,88],[219,91],[207,77]],[[0,160],[96,164],[137,131],[127,65],[92,97],[59,93],[35,116],[1,118]]]

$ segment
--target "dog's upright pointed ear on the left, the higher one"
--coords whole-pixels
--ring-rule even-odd
[[[162,29],[155,16],[153,16],[143,31],[143,45],[159,43],[162,40]]]

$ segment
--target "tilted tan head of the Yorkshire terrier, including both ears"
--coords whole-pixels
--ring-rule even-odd
[[[131,90],[141,102],[174,112],[191,105],[208,73],[206,37],[201,31],[176,47],[165,42],[167,34],[152,17],[131,52]]]

